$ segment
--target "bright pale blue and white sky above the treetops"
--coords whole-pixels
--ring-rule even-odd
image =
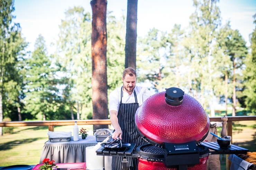
[[[220,0],[218,5],[222,24],[229,20],[231,28],[238,29],[249,46],[249,34],[255,29],[256,0]],[[64,12],[74,6],[92,11],[90,0],[15,0],[13,14],[16,19],[13,21],[20,23],[23,36],[30,42],[28,49],[34,49],[36,38],[42,34],[50,50]],[[127,0],[108,0],[107,10],[113,11],[116,18],[122,14],[126,16],[126,9]],[[144,36],[152,28],[170,31],[175,23],[187,27],[193,11],[192,0],[138,0],[138,36]]]

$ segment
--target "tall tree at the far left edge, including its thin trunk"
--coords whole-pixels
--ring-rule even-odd
[[[14,101],[19,96],[21,87],[19,87],[16,64],[18,63],[19,51],[24,50],[26,44],[21,38],[19,24],[12,22],[14,17],[12,15],[14,11],[13,1],[0,0],[0,4],[0,121],[3,121],[3,113],[5,112],[3,103],[9,99]],[[15,74],[16,78],[13,79]],[[10,87],[17,88],[12,89]],[[11,93],[12,95],[10,95]],[[14,96],[16,99],[10,98],[10,96]],[[18,103],[17,107],[19,107]],[[2,135],[2,127],[0,127],[0,135]]]

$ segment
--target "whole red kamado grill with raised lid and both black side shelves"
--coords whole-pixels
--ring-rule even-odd
[[[179,88],[168,88],[149,97],[136,111],[136,130],[148,144],[135,148],[98,149],[97,155],[136,157],[138,170],[207,170],[209,154],[246,153],[231,145],[203,142],[210,119],[201,104]],[[210,153],[209,148],[214,150]]]

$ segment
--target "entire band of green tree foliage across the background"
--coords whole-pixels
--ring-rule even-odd
[[[229,23],[220,26],[217,3],[217,0],[194,0],[195,11],[188,28],[181,29],[177,24],[166,32],[153,28],[139,37],[137,82],[146,83],[155,91],[179,87],[211,110],[214,98],[225,96],[225,88],[228,88],[228,98],[232,98],[231,82],[235,76],[239,106],[255,113],[255,30],[251,38],[252,53],[247,54],[239,31],[232,30]],[[82,7],[68,9],[54,42],[56,52],[48,55],[44,38],[39,35],[35,50],[28,55],[19,25],[11,22],[13,1],[1,0],[1,4],[3,116],[18,120],[19,108],[23,119],[92,119],[90,13]],[[116,19],[108,12],[108,93],[122,84],[125,31],[126,18]]]

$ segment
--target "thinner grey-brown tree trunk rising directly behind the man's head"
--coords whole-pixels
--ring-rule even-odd
[[[131,67],[135,70],[137,43],[137,8],[138,0],[127,1],[125,68]]]

